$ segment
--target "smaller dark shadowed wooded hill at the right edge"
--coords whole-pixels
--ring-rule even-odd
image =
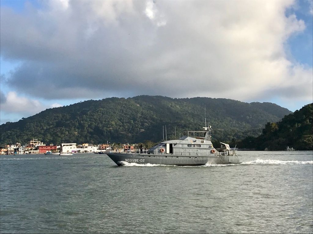
[[[268,122],[258,137],[247,137],[239,148],[256,150],[284,150],[293,147],[296,150],[313,150],[313,104],[308,104],[280,122]]]

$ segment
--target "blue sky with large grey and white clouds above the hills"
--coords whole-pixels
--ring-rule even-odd
[[[312,0],[0,0],[0,123],[137,95],[313,102]]]

